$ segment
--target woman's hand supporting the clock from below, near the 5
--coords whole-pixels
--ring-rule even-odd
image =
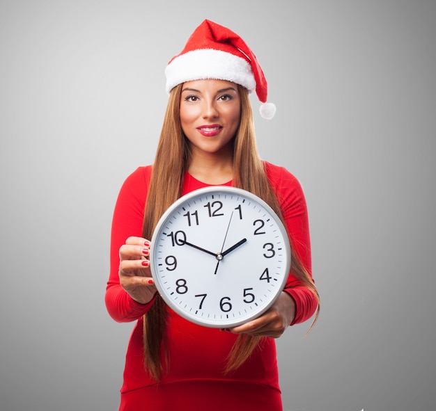
[[[292,323],[294,316],[294,299],[288,293],[282,291],[275,303],[260,317],[230,328],[229,331],[234,334],[279,338]]]

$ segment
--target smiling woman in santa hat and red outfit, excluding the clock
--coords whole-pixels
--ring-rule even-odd
[[[297,179],[260,160],[249,92],[265,103],[267,83],[238,35],[205,20],[166,67],[169,103],[153,166],[120,190],[111,236],[106,304],[120,322],[137,321],[127,350],[120,410],[282,410],[274,339],[318,315],[311,278],[306,203]],[[271,117],[263,104],[263,115]],[[181,195],[238,186],[282,216],[293,250],[285,289],[254,321],[230,330],[182,319],[157,295],[150,241]]]

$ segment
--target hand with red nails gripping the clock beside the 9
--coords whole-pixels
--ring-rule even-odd
[[[137,303],[150,303],[156,287],[150,271],[150,241],[129,237],[120,247],[120,284]]]

